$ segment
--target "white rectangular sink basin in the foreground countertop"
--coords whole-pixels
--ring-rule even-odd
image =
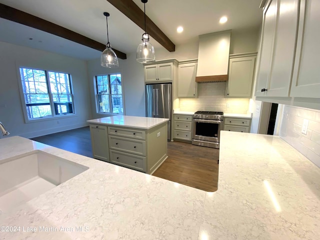
[[[87,169],[87,166],[40,150],[2,160],[0,213],[10,211]]]

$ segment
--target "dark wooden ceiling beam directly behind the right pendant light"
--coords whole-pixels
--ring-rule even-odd
[[[131,21],[144,30],[144,12],[132,0],[107,0]],[[158,28],[155,23],[145,15],[146,32],[149,33],[168,51],[174,51],[174,43]],[[142,36],[142,34],[141,34]]]

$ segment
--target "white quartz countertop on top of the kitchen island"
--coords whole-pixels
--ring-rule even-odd
[[[168,120],[168,118],[117,115],[87,120],[87,122],[94,124],[150,129]]]

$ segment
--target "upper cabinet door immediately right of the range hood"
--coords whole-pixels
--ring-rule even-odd
[[[254,65],[255,56],[230,58],[226,97],[251,97]]]

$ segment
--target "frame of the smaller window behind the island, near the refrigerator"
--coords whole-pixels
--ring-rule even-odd
[[[111,92],[111,79],[110,79],[110,75],[116,75],[116,74],[120,74],[121,75],[121,94],[112,94]],[[109,109],[110,112],[102,112],[99,111],[99,95],[104,95],[101,93],[98,93],[98,83],[97,83],[97,77],[98,76],[107,76],[107,81],[108,81],[108,99],[109,99]],[[123,83],[122,83],[122,74],[121,72],[112,72],[112,73],[104,73],[104,74],[96,74],[93,77],[94,80],[94,95],[95,95],[95,108],[96,108],[96,113],[97,114],[103,114],[103,115],[124,115],[124,93],[123,93]],[[112,112],[113,108],[112,108],[112,95],[121,95],[122,98],[122,113],[116,113],[116,112]]]

